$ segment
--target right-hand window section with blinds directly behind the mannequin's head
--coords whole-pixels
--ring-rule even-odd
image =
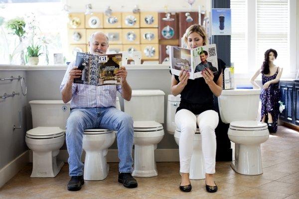
[[[262,65],[264,53],[273,48],[278,57],[278,66],[290,65],[289,5],[288,0],[257,0],[256,63]]]

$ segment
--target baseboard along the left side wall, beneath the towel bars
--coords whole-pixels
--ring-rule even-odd
[[[29,153],[25,151],[13,161],[8,163],[5,167],[0,169],[0,187],[8,182],[14,175],[16,175],[21,169],[23,169],[29,162]]]

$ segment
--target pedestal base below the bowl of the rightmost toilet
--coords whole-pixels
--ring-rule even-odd
[[[235,172],[249,176],[263,174],[260,145],[239,144],[238,154],[238,159],[231,163]]]

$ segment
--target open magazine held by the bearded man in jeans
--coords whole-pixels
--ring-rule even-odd
[[[76,66],[82,75],[74,79],[77,84],[100,86],[103,84],[121,84],[116,72],[122,65],[122,54],[97,55],[77,52]]]

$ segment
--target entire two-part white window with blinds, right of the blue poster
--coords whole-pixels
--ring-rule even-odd
[[[231,0],[231,62],[235,73],[256,71],[269,48],[278,52],[276,65],[286,72],[292,71],[292,67],[296,69],[296,64],[290,66],[294,60],[292,51],[296,51],[296,46],[290,45],[292,42],[296,45],[296,36],[290,36],[296,26],[296,19],[290,22],[290,17],[296,17],[296,9],[295,13],[290,11],[292,3],[296,5],[296,0]]]

